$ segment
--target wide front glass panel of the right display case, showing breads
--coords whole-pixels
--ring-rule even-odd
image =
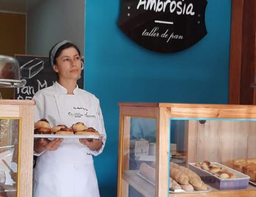
[[[194,193],[255,190],[249,185],[249,180],[253,184],[256,176],[255,172],[251,173],[256,169],[255,131],[255,120],[170,120],[170,143],[174,144],[170,145],[170,177],[181,183],[175,176],[176,169],[199,175],[203,184],[206,184],[204,187],[193,185],[189,177],[192,174],[187,172],[184,174],[192,187],[182,188],[180,184],[184,191],[192,190]]]

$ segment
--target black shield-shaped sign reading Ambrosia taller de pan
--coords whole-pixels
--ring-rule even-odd
[[[173,53],[207,34],[206,0],[121,0],[118,26],[139,45]]]

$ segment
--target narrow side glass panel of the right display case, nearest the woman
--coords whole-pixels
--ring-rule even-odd
[[[156,131],[155,119],[124,117],[123,195],[154,196]]]

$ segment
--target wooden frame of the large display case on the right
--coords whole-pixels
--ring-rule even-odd
[[[119,147],[118,147],[118,197],[127,197],[129,192],[129,179],[123,173],[129,169],[129,142],[130,118],[145,117],[157,120],[156,144],[156,185],[155,190],[137,185],[136,190],[143,196],[256,196],[256,188],[247,190],[212,190],[208,193],[170,193],[168,188],[169,138],[170,118],[206,118],[206,119],[233,119],[256,120],[256,106],[226,105],[226,104],[169,104],[169,103],[118,103],[119,106]],[[160,132],[161,131],[161,132]],[[256,131],[255,131],[256,135]],[[189,142],[189,139],[187,139]],[[189,153],[188,153],[189,154]],[[189,159],[189,155],[188,155]],[[135,180],[136,181],[136,180]],[[135,184],[136,185],[136,184]],[[151,187],[153,188],[153,187]]]

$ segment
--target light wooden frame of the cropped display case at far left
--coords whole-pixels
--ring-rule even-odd
[[[17,197],[32,196],[34,101],[0,100],[0,117],[20,120]]]

